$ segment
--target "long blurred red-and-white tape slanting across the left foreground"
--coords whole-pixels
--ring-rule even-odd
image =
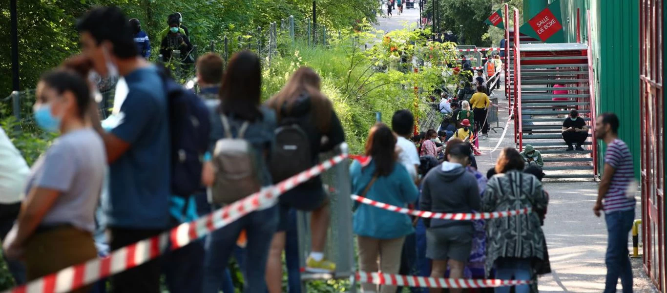
[[[227,226],[229,223],[238,220],[250,212],[273,206],[281,194],[306,182],[310,178],[318,176],[346,158],[348,158],[348,154],[338,155],[309,170],[287,178],[279,184],[264,188],[197,220],[180,224],[162,234],[115,250],[105,258],[96,258],[83,264],[64,268],[55,274],[33,280],[28,284],[7,290],[3,293],[70,292],[107,276],[134,268],[153,258],[157,258],[157,256],[163,254],[166,250],[181,248],[193,242],[193,240],[206,236],[210,232],[213,232],[213,230]],[[169,242],[171,242],[171,246],[169,246]]]

